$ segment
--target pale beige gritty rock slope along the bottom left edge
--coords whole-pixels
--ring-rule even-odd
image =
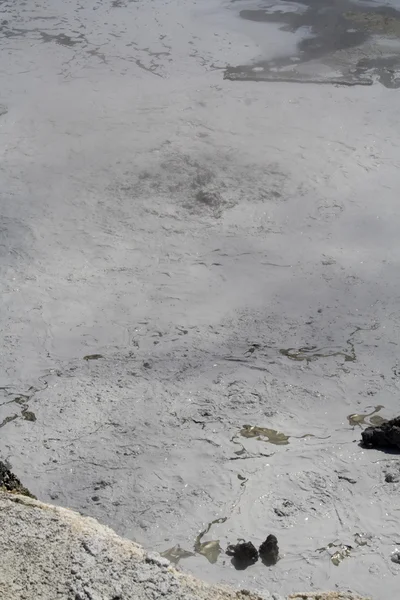
[[[94,519],[0,491],[2,600],[281,600],[203,583]],[[294,594],[293,600],[362,600]],[[283,600],[283,599],[282,599]]]

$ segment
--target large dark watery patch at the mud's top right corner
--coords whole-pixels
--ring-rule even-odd
[[[225,79],[341,85],[378,80],[386,87],[400,87],[400,11],[395,8],[348,0],[265,2],[257,9],[241,10],[239,17],[303,35],[296,53],[229,66]]]

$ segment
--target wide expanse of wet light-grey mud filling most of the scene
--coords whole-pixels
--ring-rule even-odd
[[[224,80],[295,36],[235,3],[0,10],[2,460],[207,581],[396,597],[397,91]]]

